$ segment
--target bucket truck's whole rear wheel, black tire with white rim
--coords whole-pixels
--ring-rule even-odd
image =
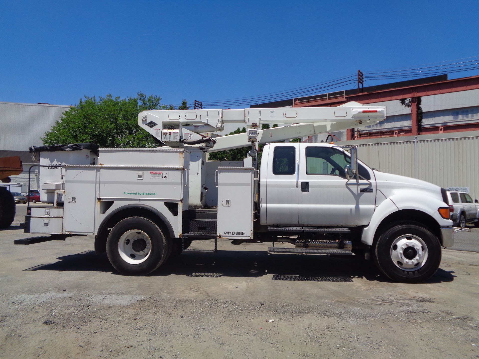
[[[147,275],[158,269],[168,259],[169,247],[169,240],[160,227],[143,217],[121,220],[106,240],[106,253],[114,269],[133,276]]]

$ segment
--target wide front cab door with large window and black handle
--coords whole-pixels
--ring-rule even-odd
[[[315,146],[316,145],[316,146]],[[365,179],[346,179],[349,152],[318,144],[300,144],[299,225],[359,226],[369,224],[376,204],[376,180],[359,164]]]

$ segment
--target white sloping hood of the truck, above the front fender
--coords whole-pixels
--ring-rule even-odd
[[[435,184],[411,177],[394,175],[373,170],[376,177],[376,189],[387,198],[403,190],[429,192],[442,201],[441,187]]]

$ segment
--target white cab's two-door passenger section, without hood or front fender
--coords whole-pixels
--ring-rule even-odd
[[[351,157],[330,144],[269,144],[261,168],[261,223],[354,227],[375,210],[374,171],[359,163],[360,180],[348,180]]]

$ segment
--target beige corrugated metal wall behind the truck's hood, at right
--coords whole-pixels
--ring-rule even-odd
[[[438,186],[468,187],[479,199],[479,131],[341,141],[358,145],[358,157],[382,172],[422,179]]]

